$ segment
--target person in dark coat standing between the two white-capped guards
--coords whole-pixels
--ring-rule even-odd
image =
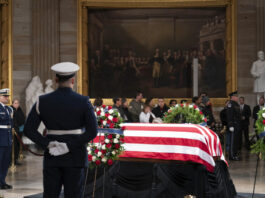
[[[14,129],[17,133],[17,135],[19,135],[20,139],[22,138],[22,132],[23,132],[23,128],[24,128],[24,123],[25,123],[25,114],[23,113],[21,107],[20,107],[20,103],[18,99],[14,99],[12,102],[12,109],[13,109],[13,123],[14,123]],[[14,148],[15,148],[15,163],[17,165],[20,165],[18,163],[18,156],[19,156],[19,152],[20,152],[20,143],[18,141],[18,138],[15,136],[14,138]]]

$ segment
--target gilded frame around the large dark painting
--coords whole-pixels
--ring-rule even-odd
[[[78,0],[77,26],[77,63],[81,69],[78,73],[77,89],[88,95],[88,30],[87,9],[102,8],[204,8],[225,7],[226,10],[226,94],[237,89],[237,32],[236,0]],[[166,98],[168,102],[172,98]],[[178,101],[184,98],[177,98]],[[191,98],[185,98],[191,101]],[[214,106],[224,106],[227,98],[211,98]],[[112,99],[104,98],[104,104],[111,105]]]

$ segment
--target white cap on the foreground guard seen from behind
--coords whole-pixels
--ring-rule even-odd
[[[58,76],[74,76],[79,70],[79,66],[71,62],[62,62],[53,65],[51,70],[54,71]]]

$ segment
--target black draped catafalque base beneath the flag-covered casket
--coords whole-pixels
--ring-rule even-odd
[[[236,195],[223,161],[216,162],[213,173],[200,164],[116,162],[105,170],[98,168],[97,174],[95,169],[89,169],[85,190],[86,198],[183,198],[185,195],[197,198],[251,197],[250,194]],[[27,196],[39,197],[42,196]]]

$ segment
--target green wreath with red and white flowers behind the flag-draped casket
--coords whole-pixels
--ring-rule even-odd
[[[164,114],[164,123],[192,123],[207,125],[207,118],[197,105],[177,104]]]

